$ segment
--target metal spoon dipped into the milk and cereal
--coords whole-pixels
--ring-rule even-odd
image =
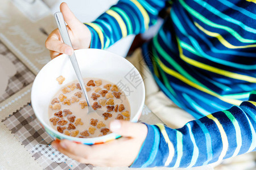
[[[68,30],[67,30],[65,20],[63,18],[62,13],[61,12],[56,12],[54,14],[54,17],[55,17],[57,26],[59,28],[60,35],[63,39],[63,42],[73,48],[71,40],[70,40],[69,35],[68,35]],[[83,94],[85,96],[85,99],[86,99],[86,102],[88,104],[88,113],[87,114],[92,113],[92,112],[96,112],[96,111],[94,111],[94,109],[90,105],[90,101],[89,101],[89,98],[88,98],[88,95],[87,95],[87,92],[86,92],[86,88],[84,86],[84,81],[82,80],[81,71],[79,69],[79,65],[77,63],[75,53],[73,53],[72,56],[69,56],[69,59],[72,63],[72,66],[73,66],[75,72],[76,72],[77,79],[79,80],[79,84],[81,86],[82,92],[83,92]]]

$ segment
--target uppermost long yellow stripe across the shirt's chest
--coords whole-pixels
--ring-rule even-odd
[[[195,25],[196,25],[197,28],[199,28],[201,31],[203,31],[208,36],[216,37],[221,42],[221,44],[226,46],[226,48],[237,49],[237,48],[251,48],[251,47],[255,47],[256,46],[256,44],[245,45],[245,46],[234,46],[234,45],[230,44],[228,41],[226,41],[224,39],[224,37],[222,37],[219,33],[210,32],[210,31],[204,29],[203,27],[201,27],[201,25],[199,25],[196,22],[195,22]]]

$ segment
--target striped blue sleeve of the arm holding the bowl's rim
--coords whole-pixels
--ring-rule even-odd
[[[148,134],[131,167],[187,168],[256,151],[256,91],[240,106],[171,129],[147,125]]]

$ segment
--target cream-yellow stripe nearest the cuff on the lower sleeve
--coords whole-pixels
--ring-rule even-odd
[[[174,157],[174,145],[172,145],[172,142],[170,141],[170,138],[167,135],[166,128],[164,128],[164,125],[163,124],[156,124],[156,126],[159,127],[161,133],[163,134],[164,139],[166,140],[168,148],[169,148],[169,155],[168,155],[168,158],[166,160],[166,163],[164,163],[164,166],[168,166],[171,163],[172,158]]]

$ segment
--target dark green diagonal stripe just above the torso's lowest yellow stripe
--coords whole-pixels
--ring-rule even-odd
[[[174,68],[179,71],[180,74],[182,74],[183,76],[185,76],[187,79],[191,80],[192,82],[198,84],[201,87],[206,88],[207,90],[209,90],[209,88],[205,87],[203,84],[201,84],[199,81],[197,81],[195,78],[193,78],[191,75],[189,75],[180,65],[178,65],[176,63],[176,61],[174,61],[174,59],[172,59],[171,56],[169,56],[168,53],[166,53],[166,51],[164,51],[164,49],[160,46],[158,40],[157,40],[157,36],[155,36],[153,38],[153,43],[156,47],[156,50],[161,54],[161,56],[166,59],[166,61],[168,63],[170,63],[172,66],[174,66]],[[209,90],[211,91],[211,90]]]

